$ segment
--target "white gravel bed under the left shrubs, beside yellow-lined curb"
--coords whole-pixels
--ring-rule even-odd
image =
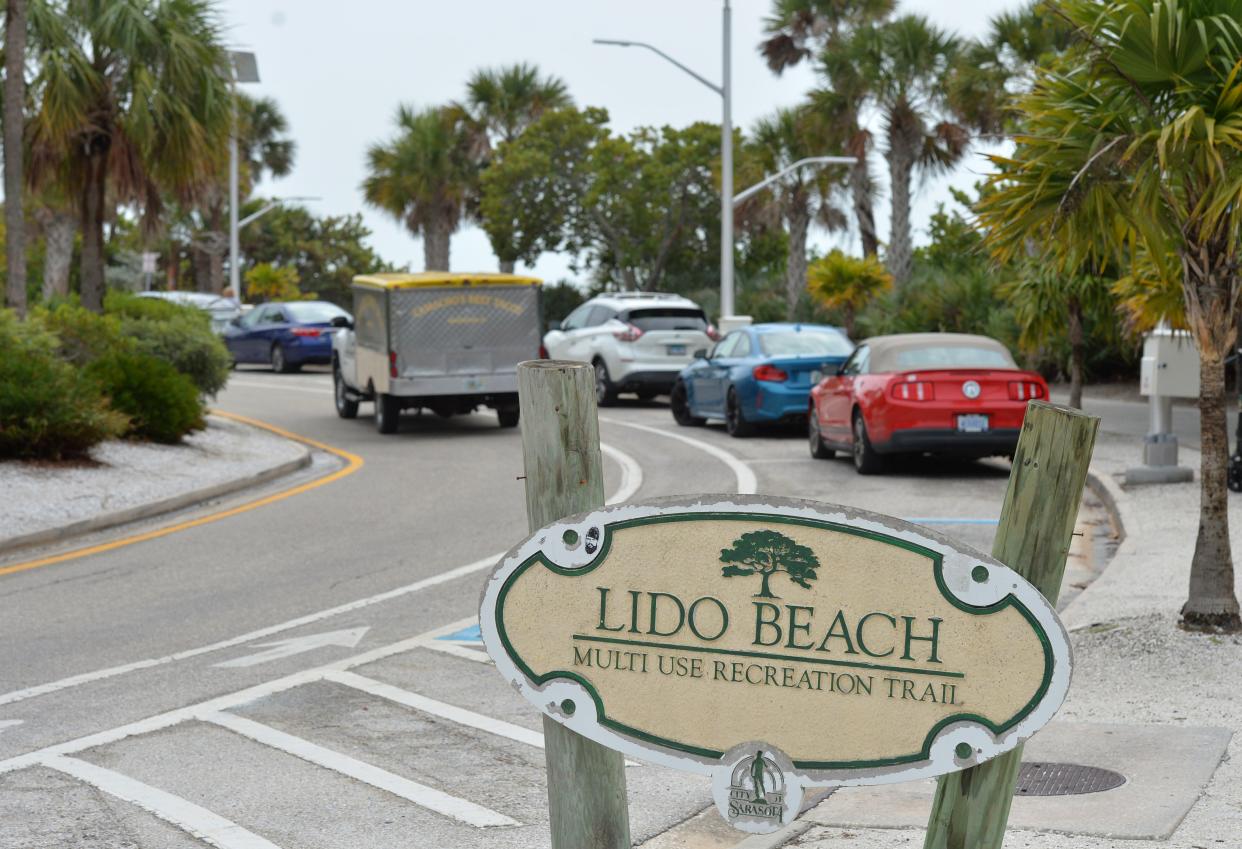
[[[106,442],[92,463],[0,463],[0,544],[101,514],[248,478],[306,453],[296,442],[219,416],[179,446]]]

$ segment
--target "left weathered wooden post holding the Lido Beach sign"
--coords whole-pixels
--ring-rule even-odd
[[[604,506],[595,371],[584,362],[518,366],[527,520],[535,531]],[[625,760],[544,716],[553,849],[630,849]]]

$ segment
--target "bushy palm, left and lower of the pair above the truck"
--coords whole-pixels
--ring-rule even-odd
[[[366,202],[422,236],[427,271],[448,271],[448,242],[476,181],[469,138],[452,109],[401,106],[396,135],[366,151]]]

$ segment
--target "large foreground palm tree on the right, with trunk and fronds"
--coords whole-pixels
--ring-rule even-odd
[[[997,253],[1040,237],[1077,263],[1138,243],[1180,269],[1200,354],[1200,524],[1187,628],[1242,629],[1230,547],[1225,356],[1242,295],[1242,0],[1063,0],[1082,46],[1022,102],[980,207]]]

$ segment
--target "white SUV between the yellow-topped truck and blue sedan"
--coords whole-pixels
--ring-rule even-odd
[[[619,392],[647,400],[667,393],[694,351],[719,339],[693,300],[655,292],[591,298],[544,336],[548,355],[595,365],[600,406]]]

